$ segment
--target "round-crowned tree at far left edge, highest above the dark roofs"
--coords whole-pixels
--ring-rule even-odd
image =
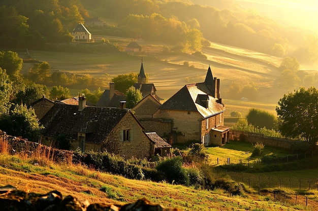
[[[0,67],[7,70],[7,74],[14,76],[19,74],[22,69],[23,59],[16,52],[1,51],[0,52]]]

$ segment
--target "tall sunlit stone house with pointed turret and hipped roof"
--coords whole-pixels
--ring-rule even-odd
[[[204,82],[185,85],[152,116],[172,119],[172,143],[201,141],[205,146],[225,145],[230,129],[224,126],[225,110],[219,97],[219,79],[213,78],[209,67]]]

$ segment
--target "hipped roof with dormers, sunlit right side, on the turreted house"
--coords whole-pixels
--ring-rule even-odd
[[[204,83],[200,86],[203,87]],[[208,89],[208,88],[206,88]],[[206,96],[206,97],[204,97]],[[208,99],[208,106],[202,100]],[[216,98],[203,92],[197,84],[185,85],[181,90],[168,99],[160,109],[184,110],[199,112],[203,118],[225,111],[225,106],[218,103]]]

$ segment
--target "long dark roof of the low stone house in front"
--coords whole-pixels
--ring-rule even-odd
[[[78,111],[78,106],[55,104],[41,119],[45,137],[66,135],[77,140],[78,132],[86,133],[87,142],[101,143],[123,118],[129,109],[90,107]]]

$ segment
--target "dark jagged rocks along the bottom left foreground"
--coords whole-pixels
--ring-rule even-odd
[[[69,195],[65,198],[58,191],[47,194],[26,193],[11,185],[0,187],[0,210],[2,211],[177,211],[177,208],[164,208],[151,204],[147,199],[124,205],[80,201]]]

